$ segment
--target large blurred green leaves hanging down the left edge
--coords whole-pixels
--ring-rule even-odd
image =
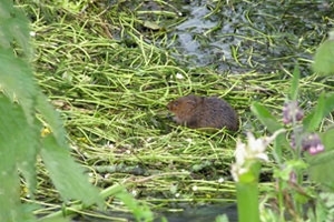
[[[0,221],[33,220],[32,214],[27,213],[30,208],[20,202],[19,172],[33,198],[38,154],[65,200],[78,199],[87,205],[101,204],[98,190],[70,158],[57,112],[33,80],[29,67],[28,20],[10,1],[1,1],[0,11],[0,20],[4,24],[0,27],[3,33],[0,42]],[[16,47],[12,47],[14,43]],[[51,133],[41,135],[42,128]]]

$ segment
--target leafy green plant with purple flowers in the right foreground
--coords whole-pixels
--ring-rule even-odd
[[[276,138],[272,150],[277,163],[273,168],[277,188],[272,194],[266,195],[272,198],[271,202],[276,202],[278,211],[273,213],[275,210],[265,206],[262,213],[263,221],[289,221],[291,219],[301,221],[305,218],[308,221],[333,220],[333,202],[324,195],[334,195],[334,174],[331,171],[334,165],[334,130],[333,125],[323,130],[321,128],[323,121],[334,110],[334,93],[321,93],[315,108],[304,117],[304,111],[295,105],[301,90],[299,81],[299,71],[295,69],[291,93],[287,97],[285,110],[283,110],[284,125],[279,123],[281,117],[271,115],[263,104],[252,104],[252,111],[269,132],[274,133],[278,129],[285,131]],[[283,150],[291,151],[289,159],[283,154]],[[307,175],[306,181],[304,180],[305,175]],[[317,184],[317,190],[311,186],[314,183]],[[245,183],[244,186],[244,193],[252,193],[254,190],[250,184]],[[245,198],[244,194],[238,200],[238,205],[258,205],[257,196],[254,196],[253,200],[245,200]],[[288,218],[286,218],[287,206]],[[239,212],[239,219],[244,219],[242,221],[246,222],[249,212],[247,212],[247,208],[243,209],[244,211]]]

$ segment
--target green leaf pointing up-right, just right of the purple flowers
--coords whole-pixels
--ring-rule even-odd
[[[334,110],[334,93],[324,94],[322,93],[317,100],[317,104],[314,110],[304,118],[304,128],[312,132],[316,130],[323,119]]]

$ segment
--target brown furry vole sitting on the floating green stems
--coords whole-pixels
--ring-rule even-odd
[[[239,121],[236,111],[217,97],[189,94],[167,104],[174,120],[188,128],[217,128],[237,131]]]

